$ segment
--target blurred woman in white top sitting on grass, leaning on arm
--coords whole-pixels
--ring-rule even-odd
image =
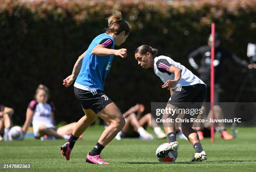
[[[24,136],[30,126],[33,125],[33,133],[36,139],[69,139],[76,122],[61,126],[56,129],[53,102],[48,101],[49,89],[40,84],[36,89],[35,100],[28,105],[26,121],[23,125]]]

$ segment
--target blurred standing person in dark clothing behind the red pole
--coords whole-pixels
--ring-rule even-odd
[[[195,51],[192,51],[192,53],[189,54],[188,59],[190,65],[199,73],[199,78],[207,85],[205,102],[210,102],[211,35],[208,36],[207,40],[208,45],[201,46]],[[215,33],[215,59],[213,61],[215,67],[215,102],[220,101],[220,79],[223,73],[223,62],[227,58],[230,58],[237,65],[245,68],[251,68],[252,66],[247,61],[242,60],[235,54],[230,53],[223,46],[220,46],[220,37],[218,33]],[[197,61],[200,61],[200,64],[198,64]],[[253,65],[253,68],[255,68],[255,64]]]

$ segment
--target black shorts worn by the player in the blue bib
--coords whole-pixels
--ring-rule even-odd
[[[106,96],[100,89],[95,91],[86,91],[74,87],[74,93],[80,100],[83,109],[92,109],[95,114],[99,113],[105,106],[113,101]]]

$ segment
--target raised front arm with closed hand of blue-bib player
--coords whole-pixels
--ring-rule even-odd
[[[115,56],[120,56],[122,58],[125,58],[127,56],[126,52],[127,52],[127,49],[125,48],[114,50],[110,48],[105,48],[101,44],[98,44],[97,46],[95,46],[95,48],[92,49],[92,54],[96,56],[115,55]]]

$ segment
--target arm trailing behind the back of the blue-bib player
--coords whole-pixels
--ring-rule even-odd
[[[82,66],[82,60],[84,58],[86,51],[78,57],[76,63],[74,64],[74,68],[72,71],[72,74],[69,75],[66,79],[63,80],[63,85],[65,87],[68,87],[70,85],[72,85],[72,83],[74,82],[74,80],[77,78],[78,73],[80,72],[81,66]]]

